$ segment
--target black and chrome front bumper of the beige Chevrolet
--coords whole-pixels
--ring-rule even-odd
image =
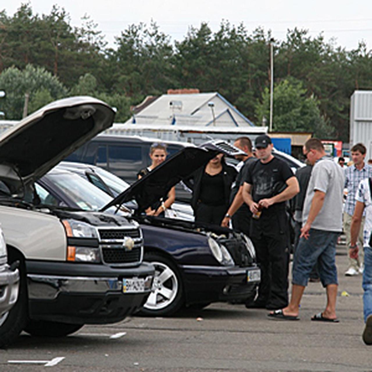
[[[67,262],[26,262],[29,316],[35,320],[108,324],[123,320],[146,302],[154,267],[110,267]],[[123,292],[123,279],[144,279],[144,291]]]

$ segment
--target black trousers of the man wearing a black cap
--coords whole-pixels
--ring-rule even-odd
[[[279,309],[288,305],[288,217],[281,209],[265,212],[251,221],[250,238],[261,268],[256,302]]]

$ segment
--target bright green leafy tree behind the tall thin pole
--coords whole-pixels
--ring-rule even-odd
[[[273,130],[291,132],[314,132],[319,138],[331,138],[333,128],[320,115],[314,96],[307,97],[301,81],[289,78],[274,87]],[[270,115],[270,92],[265,88],[262,103],[256,105],[260,122]]]

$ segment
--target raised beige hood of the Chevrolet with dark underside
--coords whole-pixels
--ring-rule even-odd
[[[61,99],[27,116],[0,135],[0,180],[15,193],[109,128],[115,112],[92,97]],[[10,170],[18,174],[11,182]],[[12,173],[12,174],[13,174]]]

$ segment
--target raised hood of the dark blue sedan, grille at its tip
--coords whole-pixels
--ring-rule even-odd
[[[245,155],[237,147],[220,140],[208,141],[199,147],[183,148],[116,196],[101,210],[105,211],[110,206],[118,206],[132,199],[135,199],[138,205],[151,205],[157,201],[158,195],[165,197],[171,187],[190,176],[218,153],[228,156]]]

